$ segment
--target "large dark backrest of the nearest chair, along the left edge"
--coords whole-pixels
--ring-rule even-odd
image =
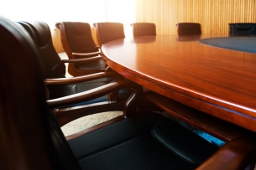
[[[3,17],[0,34],[1,169],[80,169],[46,106],[34,40]]]

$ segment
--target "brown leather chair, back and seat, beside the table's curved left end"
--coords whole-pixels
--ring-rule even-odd
[[[69,59],[87,59],[83,63],[70,63],[68,71],[73,76],[104,72],[107,64],[91,35],[89,23],[60,22],[55,24],[60,29],[61,42]]]

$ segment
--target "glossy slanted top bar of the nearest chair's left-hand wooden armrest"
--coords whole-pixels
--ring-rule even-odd
[[[67,95],[65,97],[60,97],[58,99],[47,100],[47,105],[50,108],[59,107],[59,106],[68,106],[76,103],[80,103],[86,100],[96,99],[102,95],[107,95],[115,90],[121,90],[125,87],[129,87],[130,82],[128,81],[118,81],[113,82],[107,85],[102,85],[92,90],[86,90],[75,95]]]

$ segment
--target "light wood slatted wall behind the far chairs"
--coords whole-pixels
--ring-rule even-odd
[[[201,23],[202,33],[228,33],[228,23],[256,23],[255,0],[137,0],[136,22],[175,34],[175,23]]]

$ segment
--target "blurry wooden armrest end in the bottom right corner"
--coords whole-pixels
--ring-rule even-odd
[[[244,170],[253,161],[255,153],[256,141],[248,137],[241,137],[227,142],[196,170]]]

